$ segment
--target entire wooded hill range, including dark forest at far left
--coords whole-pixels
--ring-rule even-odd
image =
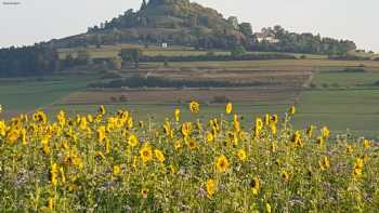
[[[84,34],[53,39],[34,46],[1,49],[0,76],[45,75],[78,65],[88,69],[86,66],[93,59],[91,55],[94,49],[99,50],[95,51],[96,53],[106,55],[97,59],[99,64],[116,64],[116,67],[119,67],[120,63],[125,63],[120,62],[119,51],[123,48],[119,49],[119,46],[132,44],[139,46],[138,49],[140,46],[160,48],[162,43],[169,46],[182,46],[185,50],[195,49],[204,51],[201,55],[207,54],[201,57],[175,57],[175,62],[178,59],[207,61],[208,53],[214,53],[214,50],[223,55],[222,57],[213,55],[214,61],[235,58],[224,56],[224,52],[243,55],[246,51],[323,54],[343,59],[349,52],[356,49],[353,41],[323,38],[312,34],[295,34],[280,26],[264,28],[262,32],[254,34],[251,24],[239,23],[235,16],[225,18],[217,10],[190,0],[151,0],[148,2],[143,0],[139,11],[127,10],[122,15],[106,21],[100,26],[89,27]],[[112,54],[108,52],[103,54],[101,51],[103,46],[112,50]],[[62,52],[68,54],[61,54]],[[65,56],[62,57],[62,55]],[[272,58],[272,56],[243,56],[243,59],[249,61]],[[162,61],[170,61],[170,58],[145,58],[145,62]]]

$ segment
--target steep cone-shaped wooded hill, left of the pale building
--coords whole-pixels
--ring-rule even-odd
[[[90,27],[87,34],[53,40],[52,43],[57,48],[71,48],[167,42],[226,49],[246,44],[248,40],[252,41],[251,26],[248,28],[249,32],[243,34],[236,18],[227,21],[218,11],[188,0],[151,0],[146,4],[143,3],[138,12],[128,10],[119,17]]]

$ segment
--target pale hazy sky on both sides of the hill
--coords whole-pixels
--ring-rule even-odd
[[[3,2],[17,1],[18,5]],[[238,16],[253,29],[282,25],[297,32],[354,40],[379,52],[379,0],[193,0]],[[0,46],[32,44],[84,32],[139,9],[142,0],[0,0]]]

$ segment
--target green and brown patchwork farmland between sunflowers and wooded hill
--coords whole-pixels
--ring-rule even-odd
[[[347,72],[345,68],[364,67],[362,72]],[[284,114],[295,104],[297,128],[314,123],[328,124],[335,133],[354,133],[377,138],[379,135],[379,62],[296,59],[258,62],[195,62],[141,65],[139,71],[121,70],[121,78],[130,76],[168,79],[217,79],[224,81],[266,82],[248,88],[207,89],[89,89],[91,82],[109,80],[102,75],[55,76],[40,79],[1,79],[1,117],[31,112],[37,108],[54,115],[60,109],[68,114],[94,112],[100,104],[109,110],[130,109],[136,118],[172,116],[175,107],[186,107],[190,99],[201,104],[202,118],[221,114],[223,104],[215,97],[232,101],[246,122],[266,112]],[[271,83],[269,83],[271,82]],[[12,91],[12,92],[10,92]],[[201,116],[200,114],[200,116]],[[187,117],[183,112],[183,117]],[[190,116],[187,117],[190,118]]]

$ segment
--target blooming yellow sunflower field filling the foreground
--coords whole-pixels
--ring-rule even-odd
[[[1,120],[0,212],[378,211],[376,143],[296,130],[293,106],[249,127],[232,103],[209,120],[200,108],[164,122],[104,106]]]

